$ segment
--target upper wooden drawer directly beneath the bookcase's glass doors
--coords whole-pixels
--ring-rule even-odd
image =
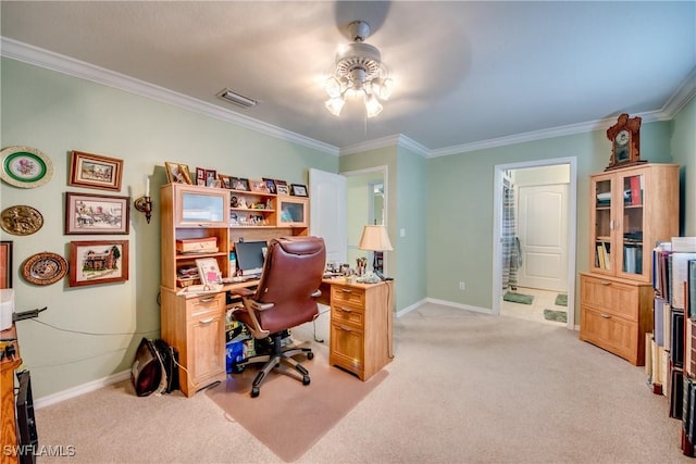
[[[581,276],[581,301],[596,310],[638,321],[638,287],[601,277]]]

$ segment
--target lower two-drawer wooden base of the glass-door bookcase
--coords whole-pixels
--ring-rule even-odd
[[[645,334],[652,330],[652,285],[581,273],[580,339],[631,364],[645,365]]]

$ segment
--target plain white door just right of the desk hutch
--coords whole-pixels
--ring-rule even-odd
[[[309,170],[309,230],[324,239],[327,262],[347,262],[346,191],[345,176]]]

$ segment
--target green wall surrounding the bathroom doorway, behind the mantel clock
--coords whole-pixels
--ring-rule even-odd
[[[644,124],[642,159],[671,163],[671,122]],[[498,164],[575,158],[576,271],[588,268],[588,176],[604,171],[605,130],[439,156],[427,163],[427,297],[468,306],[493,305],[494,170]],[[459,281],[467,290],[459,290]],[[576,292],[577,294],[577,292]],[[576,312],[580,308],[575,305]],[[575,317],[575,321],[580,318]]]

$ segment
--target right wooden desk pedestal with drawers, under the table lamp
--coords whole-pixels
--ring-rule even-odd
[[[391,362],[391,281],[332,284],[328,362],[361,380]]]

